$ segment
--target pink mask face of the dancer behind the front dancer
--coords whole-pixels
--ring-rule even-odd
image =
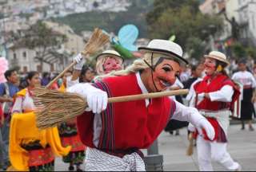
[[[118,71],[122,69],[122,60],[118,57],[106,57],[103,64],[104,72],[107,74],[111,71]]]

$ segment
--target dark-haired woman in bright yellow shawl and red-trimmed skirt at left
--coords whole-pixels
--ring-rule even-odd
[[[54,155],[66,155],[70,147],[62,147],[57,127],[38,130],[33,88],[40,85],[38,72],[28,72],[28,87],[17,93],[10,123],[10,162],[16,170],[53,171]]]

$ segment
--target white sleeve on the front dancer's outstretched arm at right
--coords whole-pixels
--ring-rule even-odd
[[[196,108],[186,107],[183,104],[178,103],[177,101],[174,101],[174,103],[176,104],[176,109],[171,119],[187,121],[192,123],[195,127],[198,127],[198,122],[201,119],[205,119],[205,117],[199,114]]]

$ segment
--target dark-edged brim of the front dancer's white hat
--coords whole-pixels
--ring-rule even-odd
[[[138,51],[142,53],[162,53],[162,54],[165,54],[166,56],[177,58],[178,61],[181,61],[186,65],[189,64],[189,62],[186,61],[186,59],[184,59],[183,57],[178,56],[178,54],[164,50],[164,49],[150,49],[147,47],[139,47]]]

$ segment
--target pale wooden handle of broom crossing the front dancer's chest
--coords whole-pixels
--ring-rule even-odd
[[[109,98],[108,103],[145,100],[145,99],[158,98],[162,96],[177,96],[177,95],[187,94],[188,92],[189,92],[188,89],[179,89],[179,90],[166,91],[166,92],[154,92],[154,93],[146,93],[146,94],[131,95],[131,96],[118,96],[118,97]]]

